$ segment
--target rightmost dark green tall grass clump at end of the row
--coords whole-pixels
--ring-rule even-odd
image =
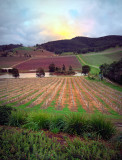
[[[102,115],[93,115],[90,118],[90,124],[93,132],[99,134],[103,139],[110,139],[115,133],[115,126]]]

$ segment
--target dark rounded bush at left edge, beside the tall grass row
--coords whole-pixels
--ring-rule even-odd
[[[12,107],[0,106],[0,125],[6,125],[9,122]]]

